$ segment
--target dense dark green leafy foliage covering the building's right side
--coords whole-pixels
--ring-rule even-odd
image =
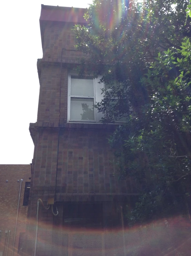
[[[185,0],[94,0],[89,25],[74,28],[76,49],[87,54],[80,73],[103,75],[102,122],[125,118],[109,142],[121,179],[141,184],[130,224],[189,215],[190,7]]]

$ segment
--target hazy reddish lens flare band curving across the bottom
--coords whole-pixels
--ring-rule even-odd
[[[190,256],[190,224],[181,216],[125,229],[69,229],[39,223],[37,255],[51,250],[54,255],[71,256]],[[35,221],[30,225],[28,237],[34,240]]]

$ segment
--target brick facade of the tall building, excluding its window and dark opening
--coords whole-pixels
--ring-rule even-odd
[[[41,10],[43,58],[38,60],[37,64],[40,81],[38,117],[37,122],[30,124],[29,128],[35,149],[28,207],[26,255],[34,254],[38,198],[41,198],[45,205],[48,198],[54,198],[59,214],[55,217],[51,209],[45,210],[40,205],[37,255],[74,256],[77,254],[74,250],[71,252],[70,243],[74,243],[75,238],[62,228],[66,223],[63,220],[66,202],[74,205],[101,205],[101,226],[107,229],[122,226],[121,207],[129,204],[132,196],[138,195],[134,182],[119,182],[115,173],[113,155],[107,142],[114,126],[67,122],[68,71],[79,63],[82,56],[81,52],[73,51],[75,39],[71,31],[74,26],[72,19],[78,19],[76,23],[82,22],[81,16],[85,11],[79,8],[48,6],[42,6]],[[62,20],[67,15],[70,22]],[[60,69],[63,48],[63,64]],[[56,212],[56,209],[54,210]],[[67,236],[67,245],[66,240],[62,240],[60,236]],[[104,239],[107,240],[107,237],[104,238],[103,235],[98,243],[102,255],[106,243]],[[120,235],[120,243],[121,239]]]

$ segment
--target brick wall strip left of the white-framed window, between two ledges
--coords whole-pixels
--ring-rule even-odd
[[[61,122],[67,120],[68,70],[62,68],[61,80]],[[44,65],[40,77],[40,94],[37,125],[58,127],[60,96],[60,67]]]

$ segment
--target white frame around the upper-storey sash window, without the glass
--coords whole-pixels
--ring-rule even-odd
[[[98,113],[98,110],[96,108],[94,108],[94,120],[73,120],[70,119],[70,102],[71,102],[71,98],[73,99],[93,99],[94,101],[94,105],[96,104],[96,102],[100,102],[103,99],[103,95],[102,95],[102,90],[104,89],[104,83],[98,83],[100,81],[100,79],[102,78],[101,76],[98,76],[97,78],[93,78],[93,86],[94,86],[94,96],[76,96],[76,95],[71,95],[71,76],[78,76],[78,73],[75,71],[69,71],[68,72],[68,107],[67,107],[67,122],[69,123],[82,123],[82,124],[101,124],[101,122],[99,120],[101,120],[101,118],[103,117],[103,113]],[[93,75],[86,75],[86,76],[93,76]]]

